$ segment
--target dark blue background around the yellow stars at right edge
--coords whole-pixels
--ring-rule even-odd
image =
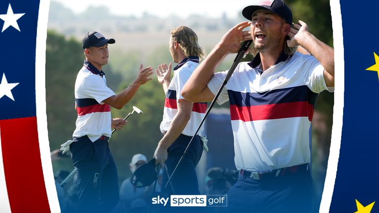
[[[344,45],[344,109],[341,150],[331,213],[357,211],[376,202],[379,212],[379,79],[375,64],[379,52],[376,22],[379,1],[340,1]],[[336,71],[338,72],[338,71]],[[329,168],[328,168],[329,169]]]

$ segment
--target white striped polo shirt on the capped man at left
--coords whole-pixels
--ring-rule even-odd
[[[102,135],[111,137],[111,107],[102,101],[114,95],[107,87],[105,73],[84,61],[75,82],[77,119],[73,137],[87,135],[92,142]]]

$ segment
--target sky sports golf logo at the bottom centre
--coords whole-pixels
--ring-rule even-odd
[[[152,198],[152,204],[159,204],[166,206],[168,204],[168,197]],[[226,207],[227,195],[171,195],[171,207]]]

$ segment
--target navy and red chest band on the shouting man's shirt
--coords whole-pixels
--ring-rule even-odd
[[[231,120],[256,121],[308,117],[312,121],[317,93],[307,86],[276,89],[263,93],[228,90]]]

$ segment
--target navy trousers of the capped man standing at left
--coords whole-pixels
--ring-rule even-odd
[[[118,203],[118,174],[108,142],[73,138],[70,145],[77,169],[76,213],[108,213]]]

